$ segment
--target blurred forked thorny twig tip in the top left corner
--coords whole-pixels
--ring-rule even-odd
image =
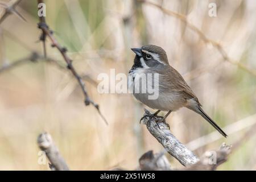
[[[7,18],[7,16],[11,14],[17,15],[19,18],[23,19],[26,22],[26,19],[18,11],[15,10],[15,7],[19,4],[20,1],[22,0],[13,0],[7,4],[0,2],[0,6],[5,9],[5,13],[3,13],[0,17],[0,24],[3,22],[3,20]]]

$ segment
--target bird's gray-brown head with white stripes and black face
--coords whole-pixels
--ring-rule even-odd
[[[136,56],[134,59],[135,67],[157,67],[158,65],[169,65],[166,51],[155,45],[142,46],[142,48],[132,48]]]

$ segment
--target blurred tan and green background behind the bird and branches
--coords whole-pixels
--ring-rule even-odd
[[[204,110],[221,127],[228,126],[224,128],[229,135],[227,139],[218,139],[218,134],[213,134],[202,146],[198,142],[199,146],[188,144],[197,155],[217,149],[222,142],[233,144],[253,127],[256,75],[249,69],[256,70],[255,1],[150,0],[185,15],[185,23],[139,1],[45,2],[46,20],[57,40],[68,48],[77,71],[94,81],[100,73],[110,74],[112,68],[116,73],[127,73],[133,65],[131,47],[155,44],[166,50],[170,64],[191,85]],[[217,5],[216,17],[208,14],[212,2]],[[0,24],[2,66],[32,51],[43,53],[42,43],[38,42],[41,32],[37,28],[37,1],[23,0],[16,10],[27,22],[10,15]],[[4,9],[0,7],[0,11],[3,13]],[[188,22],[200,32],[189,27]],[[216,45],[205,42],[201,33],[220,44],[229,60],[224,60]],[[49,40],[47,55],[65,66]],[[241,65],[249,69],[242,69]],[[131,94],[99,94],[97,83],[88,79],[85,82],[109,126],[93,106],[84,106],[81,88],[66,69],[39,61],[0,72],[0,169],[49,170],[47,164],[38,164],[36,138],[43,131],[52,135],[73,170],[117,166],[135,169],[144,152],[163,150],[146,127],[139,125],[143,106]],[[183,143],[214,131],[188,109],[172,113],[167,122]],[[255,139],[252,135],[243,141],[218,169],[255,170]],[[182,168],[174,158],[166,156],[172,167]]]

